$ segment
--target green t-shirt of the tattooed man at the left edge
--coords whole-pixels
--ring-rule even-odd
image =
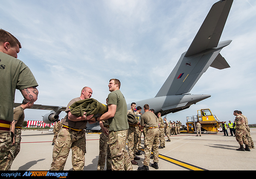
[[[22,61],[0,52],[0,119],[13,121],[15,89],[37,87],[34,75]]]

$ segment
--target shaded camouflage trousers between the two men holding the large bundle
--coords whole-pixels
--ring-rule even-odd
[[[112,169],[111,153],[110,153],[107,142],[108,142],[108,136],[106,136],[106,134],[102,132],[101,135],[99,136],[99,160],[98,160],[97,170],[104,170],[106,160],[107,160],[107,170]]]

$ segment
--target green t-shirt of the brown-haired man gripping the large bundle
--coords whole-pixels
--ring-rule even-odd
[[[127,104],[120,90],[112,91],[108,95],[108,105],[116,105],[116,113],[113,118],[108,119],[109,130],[119,131],[129,128],[127,120]]]

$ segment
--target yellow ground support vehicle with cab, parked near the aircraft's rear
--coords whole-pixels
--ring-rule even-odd
[[[186,120],[188,133],[196,132],[197,121],[201,124],[201,132],[218,133],[219,125],[221,125],[219,119],[212,115],[209,109],[198,110],[198,115],[186,117]]]

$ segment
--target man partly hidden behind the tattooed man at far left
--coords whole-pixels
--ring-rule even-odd
[[[33,104],[33,102],[23,99],[22,104],[18,107],[15,107],[15,109],[13,110],[13,121],[11,127],[11,131],[12,133],[14,133],[11,148],[13,160],[20,152],[21,129],[25,118],[24,110],[30,109],[33,106]]]

